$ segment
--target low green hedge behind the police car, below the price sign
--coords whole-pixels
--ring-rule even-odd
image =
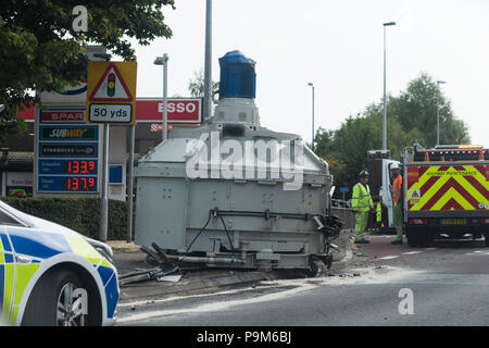
[[[2,197],[1,200],[27,214],[66,226],[90,238],[99,239],[100,198]],[[126,202],[110,199],[109,240],[125,240],[127,238],[126,216]]]

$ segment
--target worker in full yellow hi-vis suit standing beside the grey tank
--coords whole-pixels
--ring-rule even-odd
[[[351,208],[355,213],[354,241],[358,244],[369,243],[368,239],[365,239],[365,228],[368,222],[368,213],[374,209],[374,201],[367,184],[368,176],[367,171],[360,172],[360,183],[353,186],[351,197]]]

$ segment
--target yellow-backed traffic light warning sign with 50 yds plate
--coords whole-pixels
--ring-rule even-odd
[[[136,62],[88,62],[87,123],[135,124]]]

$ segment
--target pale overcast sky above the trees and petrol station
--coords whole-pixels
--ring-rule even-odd
[[[204,65],[205,0],[175,0],[165,9],[173,37],[135,45],[138,97],[162,96],[167,53],[168,96],[189,96],[188,80]],[[443,95],[489,147],[489,1],[487,0],[213,0],[212,75],[218,58],[240,50],[256,61],[261,124],[311,141],[315,126],[337,129],[383,96],[383,23],[387,28],[387,91],[398,96],[426,72],[446,80]],[[432,115],[436,117],[436,114]],[[381,124],[378,125],[381,127]]]

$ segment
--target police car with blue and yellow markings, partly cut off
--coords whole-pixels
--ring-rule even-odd
[[[112,249],[0,201],[0,325],[113,324]]]

